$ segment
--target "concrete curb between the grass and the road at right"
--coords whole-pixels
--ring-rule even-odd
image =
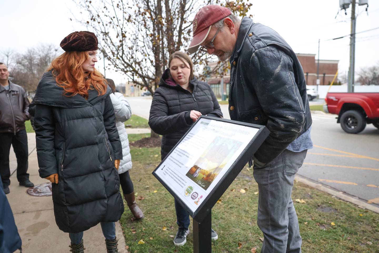
[[[303,184],[306,184],[306,185],[313,187],[315,189],[318,189],[320,191],[329,193],[330,195],[336,196],[336,197],[340,198],[341,200],[345,200],[345,201],[348,201],[352,204],[355,204],[359,208],[367,209],[367,210],[370,210],[370,211],[373,211],[373,212],[376,212],[377,214],[379,214],[379,207],[371,205],[371,204],[367,203],[366,201],[359,199],[358,197],[350,196],[350,195],[347,195],[346,193],[343,193],[343,192],[340,192],[338,190],[326,187],[325,185],[323,185],[319,182],[315,182],[312,179],[305,178],[304,176],[296,175],[295,180],[297,182],[301,182]]]

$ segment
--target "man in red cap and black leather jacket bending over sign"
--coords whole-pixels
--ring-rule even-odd
[[[265,125],[270,134],[258,148],[257,223],[262,252],[301,252],[301,236],[291,192],[310,138],[312,118],[302,66],[276,31],[249,17],[238,19],[225,7],[207,5],[193,20],[188,52],[216,55],[230,62],[229,114],[236,121]]]

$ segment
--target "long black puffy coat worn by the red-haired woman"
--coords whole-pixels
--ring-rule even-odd
[[[34,97],[39,175],[58,173],[52,184],[55,221],[69,233],[99,222],[116,222],[124,212],[114,159],[122,159],[110,88],[99,96],[89,90],[63,96],[51,72],[46,72]]]

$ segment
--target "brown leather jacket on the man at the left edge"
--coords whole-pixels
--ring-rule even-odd
[[[25,90],[9,81],[9,90],[0,85],[0,133],[14,133],[25,129],[29,116],[29,99]]]

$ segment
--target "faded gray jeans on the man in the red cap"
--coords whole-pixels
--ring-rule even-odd
[[[265,238],[262,253],[301,252],[302,241],[291,192],[295,174],[306,154],[307,150],[286,149],[268,163],[253,158],[253,175],[259,191],[257,223]]]

